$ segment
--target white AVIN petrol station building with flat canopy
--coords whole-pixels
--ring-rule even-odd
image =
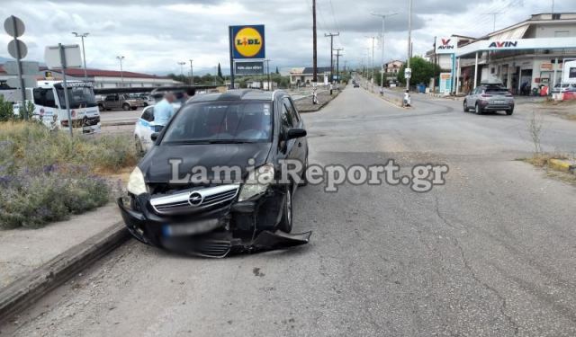
[[[554,86],[562,81],[563,63],[576,59],[576,13],[533,14],[480,39],[459,42],[455,57],[456,92],[467,93],[482,81],[500,82],[516,94]]]

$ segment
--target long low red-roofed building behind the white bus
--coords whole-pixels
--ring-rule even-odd
[[[85,79],[84,68],[66,69],[66,75],[67,79],[69,80],[83,81]],[[86,69],[86,75],[87,80],[94,83],[94,88],[137,88],[182,84],[180,82],[174,81],[170,77],[133,73],[130,71]],[[10,77],[14,77],[14,75],[7,75],[4,72],[4,68],[0,66],[0,81],[5,81]],[[62,70],[49,70],[47,67],[40,67],[40,71],[36,75],[36,78],[38,80],[61,80]]]

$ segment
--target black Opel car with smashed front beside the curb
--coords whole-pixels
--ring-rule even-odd
[[[308,143],[289,94],[194,96],[152,140],[118,200],[139,241],[211,257],[308,242],[311,232],[290,234]],[[300,165],[281,179],[287,159]]]

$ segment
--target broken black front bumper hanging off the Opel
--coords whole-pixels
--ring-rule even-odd
[[[150,195],[118,199],[121,217],[140,242],[177,253],[225,257],[307,244],[311,232],[287,234],[276,229],[285,193],[269,189],[254,200],[232,201],[200,212],[161,215]]]

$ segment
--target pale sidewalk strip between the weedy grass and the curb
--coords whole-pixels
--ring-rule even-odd
[[[112,202],[43,228],[0,230],[0,290],[120,221]]]

